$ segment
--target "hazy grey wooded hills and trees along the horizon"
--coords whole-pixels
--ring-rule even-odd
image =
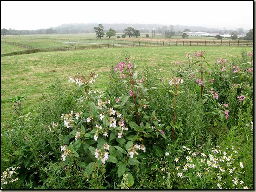
[[[48,29],[37,29],[37,30],[15,30],[15,29],[1,29],[1,35],[29,35],[29,34],[79,34],[79,33],[95,33],[95,25],[96,24],[62,24],[58,27],[52,27]],[[238,35],[245,35],[243,38],[245,40],[253,40],[253,29],[249,31],[244,31],[243,28],[238,28],[236,30],[219,30],[214,28],[206,28],[206,27],[197,27],[197,26],[182,26],[182,25],[160,25],[160,24],[101,24],[104,25],[105,31],[103,33],[110,30],[107,34],[107,37],[114,36],[113,31],[115,33],[123,33],[126,36],[138,37],[139,33],[146,33],[152,34],[152,31],[155,34],[163,35],[166,38],[172,38],[173,35],[179,34],[182,35],[184,32],[187,31],[200,31],[200,32],[207,32],[207,33],[219,33],[219,35],[224,35],[225,33],[230,33],[232,39],[237,39]],[[135,31],[131,30],[133,28]],[[112,32],[111,32],[112,31]],[[247,32],[247,33],[246,33]],[[249,33],[249,34],[248,34]],[[130,34],[130,35],[129,35]],[[99,38],[101,38],[99,36]],[[186,38],[186,37],[185,37]],[[241,38],[239,38],[241,39]]]

